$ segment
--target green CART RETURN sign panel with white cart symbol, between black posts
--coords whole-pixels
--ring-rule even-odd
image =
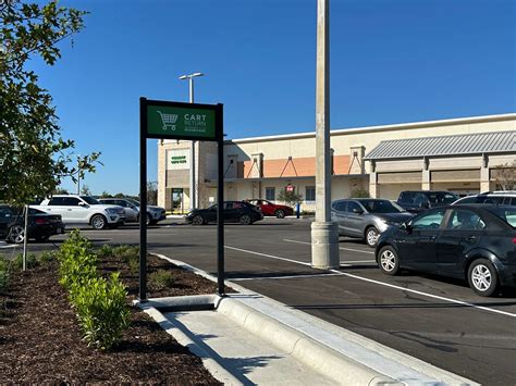
[[[222,139],[222,104],[182,103],[142,99],[146,137],[161,139]]]

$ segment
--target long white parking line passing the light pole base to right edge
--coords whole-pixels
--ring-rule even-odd
[[[250,251],[250,250],[246,250],[246,249],[241,249],[241,248],[229,247],[229,246],[224,246],[224,248],[233,249],[233,250],[237,250],[237,251],[246,252],[246,253],[250,253],[250,254],[262,256],[262,257],[270,258],[270,259],[283,260],[283,261],[288,261],[288,262],[296,263],[296,264],[311,266],[310,263],[305,263],[303,261],[296,261],[296,260],[292,260],[292,259],[285,259],[285,258],[281,258],[281,257],[278,257],[278,256],[265,254],[265,253],[259,253],[259,252],[255,252],[255,251]],[[423,297],[427,297],[427,298],[439,299],[439,300],[447,301],[447,302],[455,303],[455,304],[470,307],[470,308],[474,308],[474,309],[477,309],[477,310],[482,310],[482,311],[497,313],[497,314],[505,315],[505,316],[516,317],[516,313],[512,313],[512,312],[501,311],[501,310],[496,310],[496,309],[492,309],[492,308],[483,307],[483,306],[477,306],[477,304],[474,304],[474,303],[470,303],[470,302],[467,302],[467,301],[463,301],[463,300],[456,300],[456,299],[445,298],[445,297],[438,296],[438,295],[427,294],[427,292],[422,292],[420,290],[410,289],[410,288],[406,288],[406,287],[401,287],[401,286],[396,286],[394,284],[379,282],[379,281],[374,281],[372,278],[361,277],[361,276],[357,276],[357,275],[354,275],[354,274],[351,274],[351,273],[345,273],[345,272],[341,272],[341,271],[336,271],[336,270],[330,270],[330,272],[333,272],[333,273],[335,273],[337,275],[341,275],[341,276],[347,276],[347,277],[356,278],[358,281],[364,281],[364,282],[385,286],[385,287],[389,287],[389,288],[400,289],[402,291],[420,295],[420,296],[423,296]]]

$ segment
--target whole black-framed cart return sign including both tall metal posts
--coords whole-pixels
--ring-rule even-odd
[[[147,139],[217,141],[217,294],[224,296],[223,105],[139,99],[139,300],[147,300]]]

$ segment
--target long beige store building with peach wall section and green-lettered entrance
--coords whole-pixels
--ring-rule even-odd
[[[396,199],[402,190],[459,195],[496,189],[500,166],[516,161],[516,113],[331,132],[332,200],[364,190]],[[191,141],[158,144],[158,204],[189,208]],[[278,200],[285,187],[315,209],[316,135],[224,141],[224,198]],[[198,208],[217,197],[217,147],[195,145]]]

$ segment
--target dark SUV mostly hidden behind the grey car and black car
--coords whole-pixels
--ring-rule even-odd
[[[449,206],[458,196],[452,191],[405,190],[400,194],[396,203],[406,211],[419,213],[426,209]]]

